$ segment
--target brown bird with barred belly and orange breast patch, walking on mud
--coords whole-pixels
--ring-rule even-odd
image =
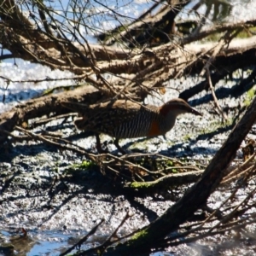
[[[74,120],[77,129],[95,133],[98,153],[104,152],[99,138],[101,133],[114,137],[114,145],[125,154],[119,146],[121,138],[165,136],[175,125],[178,115],[193,113],[202,116],[181,98],[172,99],[160,107],[125,99],[93,105],[79,102],[61,102],[61,105],[79,113]]]

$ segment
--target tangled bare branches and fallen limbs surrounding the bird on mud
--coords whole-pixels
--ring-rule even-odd
[[[208,166],[200,166],[199,163],[188,166],[178,160],[155,154],[127,154],[122,157],[113,154],[92,154],[61,137],[33,132],[33,128],[37,125],[46,124],[52,119],[63,119],[69,115],[67,109],[61,107],[63,101],[92,104],[106,99],[126,97],[142,102],[153,92],[165,93],[165,84],[170,79],[195,74],[201,75],[204,78],[203,82],[182,91],[180,97],[189,100],[203,90],[211,90],[216,111],[225,119],[225,114],[215,96],[214,86],[236,70],[247,68],[251,73],[240,86],[236,87],[236,92],[250,88],[251,85],[248,84],[255,84],[256,40],[253,33],[256,20],[236,24],[214,22],[230,15],[232,7],[228,2],[207,1],[206,13],[201,15],[199,20],[176,24],[177,15],[189,2],[176,0],[154,3],[136,20],[124,17],[119,14],[119,9],[110,9],[104,6],[103,2],[97,1],[93,3],[70,1],[68,10],[72,11],[72,17],[66,15],[66,9],[61,11],[55,9],[50,1],[17,3],[14,0],[4,0],[0,3],[0,44],[3,49],[9,49],[10,52],[8,55],[2,54],[2,60],[22,58],[52,69],[68,70],[73,73],[73,79],[77,84],[85,84],[75,90],[29,100],[6,113],[1,113],[1,143],[33,139],[54,145],[61,150],[84,154],[88,160],[96,164],[99,172],[110,176],[114,174],[113,177],[117,180],[125,178],[125,186],[121,189],[124,189],[124,193],[133,195],[153,195],[157,192],[165,196],[165,191],[173,183],[195,183],[160,218],[143,230],[137,230],[126,236],[125,238],[129,237],[129,239],[123,244],[110,247],[117,242],[112,239],[118,231],[115,230],[102,246],[91,249],[98,253],[147,255],[146,253],[153,248],[163,249],[181,242],[225,234],[234,229],[239,232],[246,229],[247,224],[252,223],[255,218],[255,213],[247,213],[255,207],[253,186],[245,199],[238,204],[230,205],[237,190],[247,186],[248,181],[255,176],[255,154],[249,152],[246,154],[247,160],[241,166],[229,168],[237,149],[256,119],[255,99]],[[93,23],[95,21],[92,18],[95,15],[93,4],[108,10],[108,13],[119,20],[121,25],[112,31],[102,32]],[[190,12],[196,13],[203,4],[203,1],[195,4]],[[212,16],[211,9],[214,9]],[[151,15],[153,11],[155,14]],[[125,19],[126,23],[124,23]],[[206,26],[207,19],[212,19],[212,26]],[[86,33],[94,35],[99,40],[99,44],[90,44]],[[235,39],[242,33],[247,34],[247,40],[238,45]],[[206,43],[211,37],[215,40],[211,44]],[[195,44],[198,41],[201,44]],[[7,78],[2,77],[2,79],[6,84],[12,82]],[[53,109],[55,109],[54,113]],[[28,120],[43,116],[44,119],[37,121],[38,123],[26,127]],[[23,136],[15,136],[13,131],[20,131]],[[183,172],[170,173],[172,168],[158,165],[157,160],[166,162],[172,160],[173,167]],[[149,170],[145,161],[149,161],[150,166],[155,166],[154,170]],[[150,177],[150,181],[145,182],[144,175]],[[230,198],[223,201],[217,209],[207,207],[208,196],[221,183],[227,184],[238,179],[240,183],[230,189]],[[227,205],[230,207],[226,207]],[[187,220],[193,218],[198,209],[203,209],[207,214],[203,219],[195,220],[194,224],[188,224]],[[246,218],[240,218],[245,214]],[[127,218],[129,214],[124,221]],[[179,235],[167,237],[173,230],[178,230]],[[96,229],[91,230],[88,236],[95,231]],[[185,239],[179,241],[178,237]],[[85,254],[81,252],[78,255]]]

